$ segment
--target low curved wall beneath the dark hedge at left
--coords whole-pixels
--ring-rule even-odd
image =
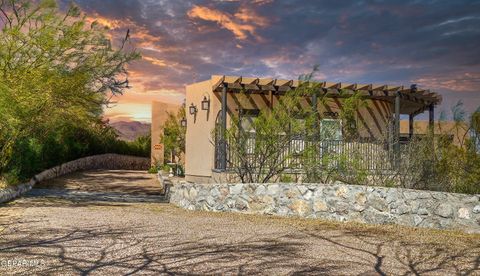
[[[110,170],[147,170],[150,159],[120,154],[101,154],[73,160],[45,170],[30,179],[28,183],[0,189],[0,203],[10,201],[32,189],[41,181],[53,179],[76,171],[110,169]]]

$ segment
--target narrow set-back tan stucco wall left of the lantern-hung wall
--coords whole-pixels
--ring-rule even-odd
[[[160,136],[163,134],[163,124],[168,118],[167,112],[177,113],[181,105],[159,101],[152,102],[152,125],[151,125],[151,161],[152,165],[163,164],[163,146],[160,143]]]

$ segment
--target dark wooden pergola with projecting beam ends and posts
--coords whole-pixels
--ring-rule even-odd
[[[216,80],[212,87],[213,92],[221,93],[221,131],[227,128],[227,93],[258,93],[273,95],[282,95],[287,91],[294,90],[304,84],[300,80],[286,80],[275,78],[252,78],[242,76],[213,76]],[[327,97],[348,97],[354,93],[360,93],[366,99],[379,99],[389,101],[395,106],[395,137],[397,141],[400,137],[400,115],[409,115],[409,136],[413,136],[414,117],[428,110],[429,124],[433,129],[435,106],[440,104],[442,96],[428,89],[419,89],[416,85],[398,86],[387,84],[358,84],[343,82],[314,82],[317,88],[312,94],[312,108],[317,108],[317,98],[319,96]],[[226,168],[226,143],[221,143],[220,164],[223,169]],[[397,143],[396,150],[399,150]]]

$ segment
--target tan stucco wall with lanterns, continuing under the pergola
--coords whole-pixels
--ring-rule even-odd
[[[218,82],[219,76],[191,84],[186,87],[186,156],[185,177],[187,181],[207,183],[215,181],[218,175],[214,169],[215,146],[213,131],[221,110],[221,93],[213,92],[212,87]],[[201,102],[207,97],[210,99],[210,110],[201,109]],[[267,109],[278,104],[279,95],[227,93],[227,127],[232,114],[238,114],[240,109]],[[325,112],[340,113],[342,98],[327,98],[318,102],[320,116]],[[195,115],[189,114],[191,105],[197,107]],[[305,99],[302,103],[305,108],[311,108],[311,100]],[[381,99],[366,99],[365,104],[357,113],[357,126],[364,137],[380,138],[386,135],[388,124],[393,114],[393,103]]]

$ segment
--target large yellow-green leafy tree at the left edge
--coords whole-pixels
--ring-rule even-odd
[[[103,107],[128,87],[126,64],[139,58],[128,37],[115,48],[77,6],[61,12],[53,0],[1,0],[0,26],[0,174],[24,171],[24,150],[55,155],[66,137],[112,132]],[[94,147],[70,146],[71,156],[56,158]]]

